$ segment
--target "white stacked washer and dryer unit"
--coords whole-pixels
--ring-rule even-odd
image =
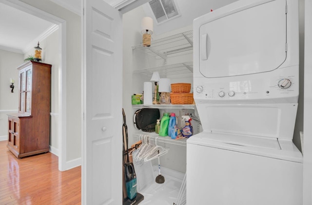
[[[203,132],[187,140],[187,204],[302,205],[298,95],[298,0],[239,0],[195,19]]]

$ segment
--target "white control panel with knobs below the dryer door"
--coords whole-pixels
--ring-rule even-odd
[[[214,101],[270,102],[274,98],[297,98],[298,78],[294,75],[270,75],[232,78],[197,78],[194,98]],[[260,78],[259,78],[260,77]],[[247,78],[247,79],[246,79]],[[222,82],[223,81],[223,82]],[[283,101],[283,100],[281,100]],[[291,100],[292,101],[292,100]]]

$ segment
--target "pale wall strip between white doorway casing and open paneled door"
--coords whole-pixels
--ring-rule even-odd
[[[81,164],[81,30],[80,16],[50,0],[20,0],[66,20],[66,158],[69,167]],[[62,89],[62,88],[59,88]],[[73,165],[73,166],[71,166]]]

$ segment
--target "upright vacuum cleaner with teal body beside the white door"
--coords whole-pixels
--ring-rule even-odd
[[[123,200],[123,205],[137,205],[143,201],[144,196],[137,193],[137,175],[135,167],[129,160],[129,149],[128,149],[128,128],[126,125],[126,115],[122,109],[123,115],[123,166],[124,166],[124,177],[125,186],[127,191],[127,198]]]

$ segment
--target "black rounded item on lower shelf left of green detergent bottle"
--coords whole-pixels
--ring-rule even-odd
[[[155,131],[156,120],[159,119],[159,117],[159,109],[142,108],[135,112],[133,122],[137,130],[153,132]]]

